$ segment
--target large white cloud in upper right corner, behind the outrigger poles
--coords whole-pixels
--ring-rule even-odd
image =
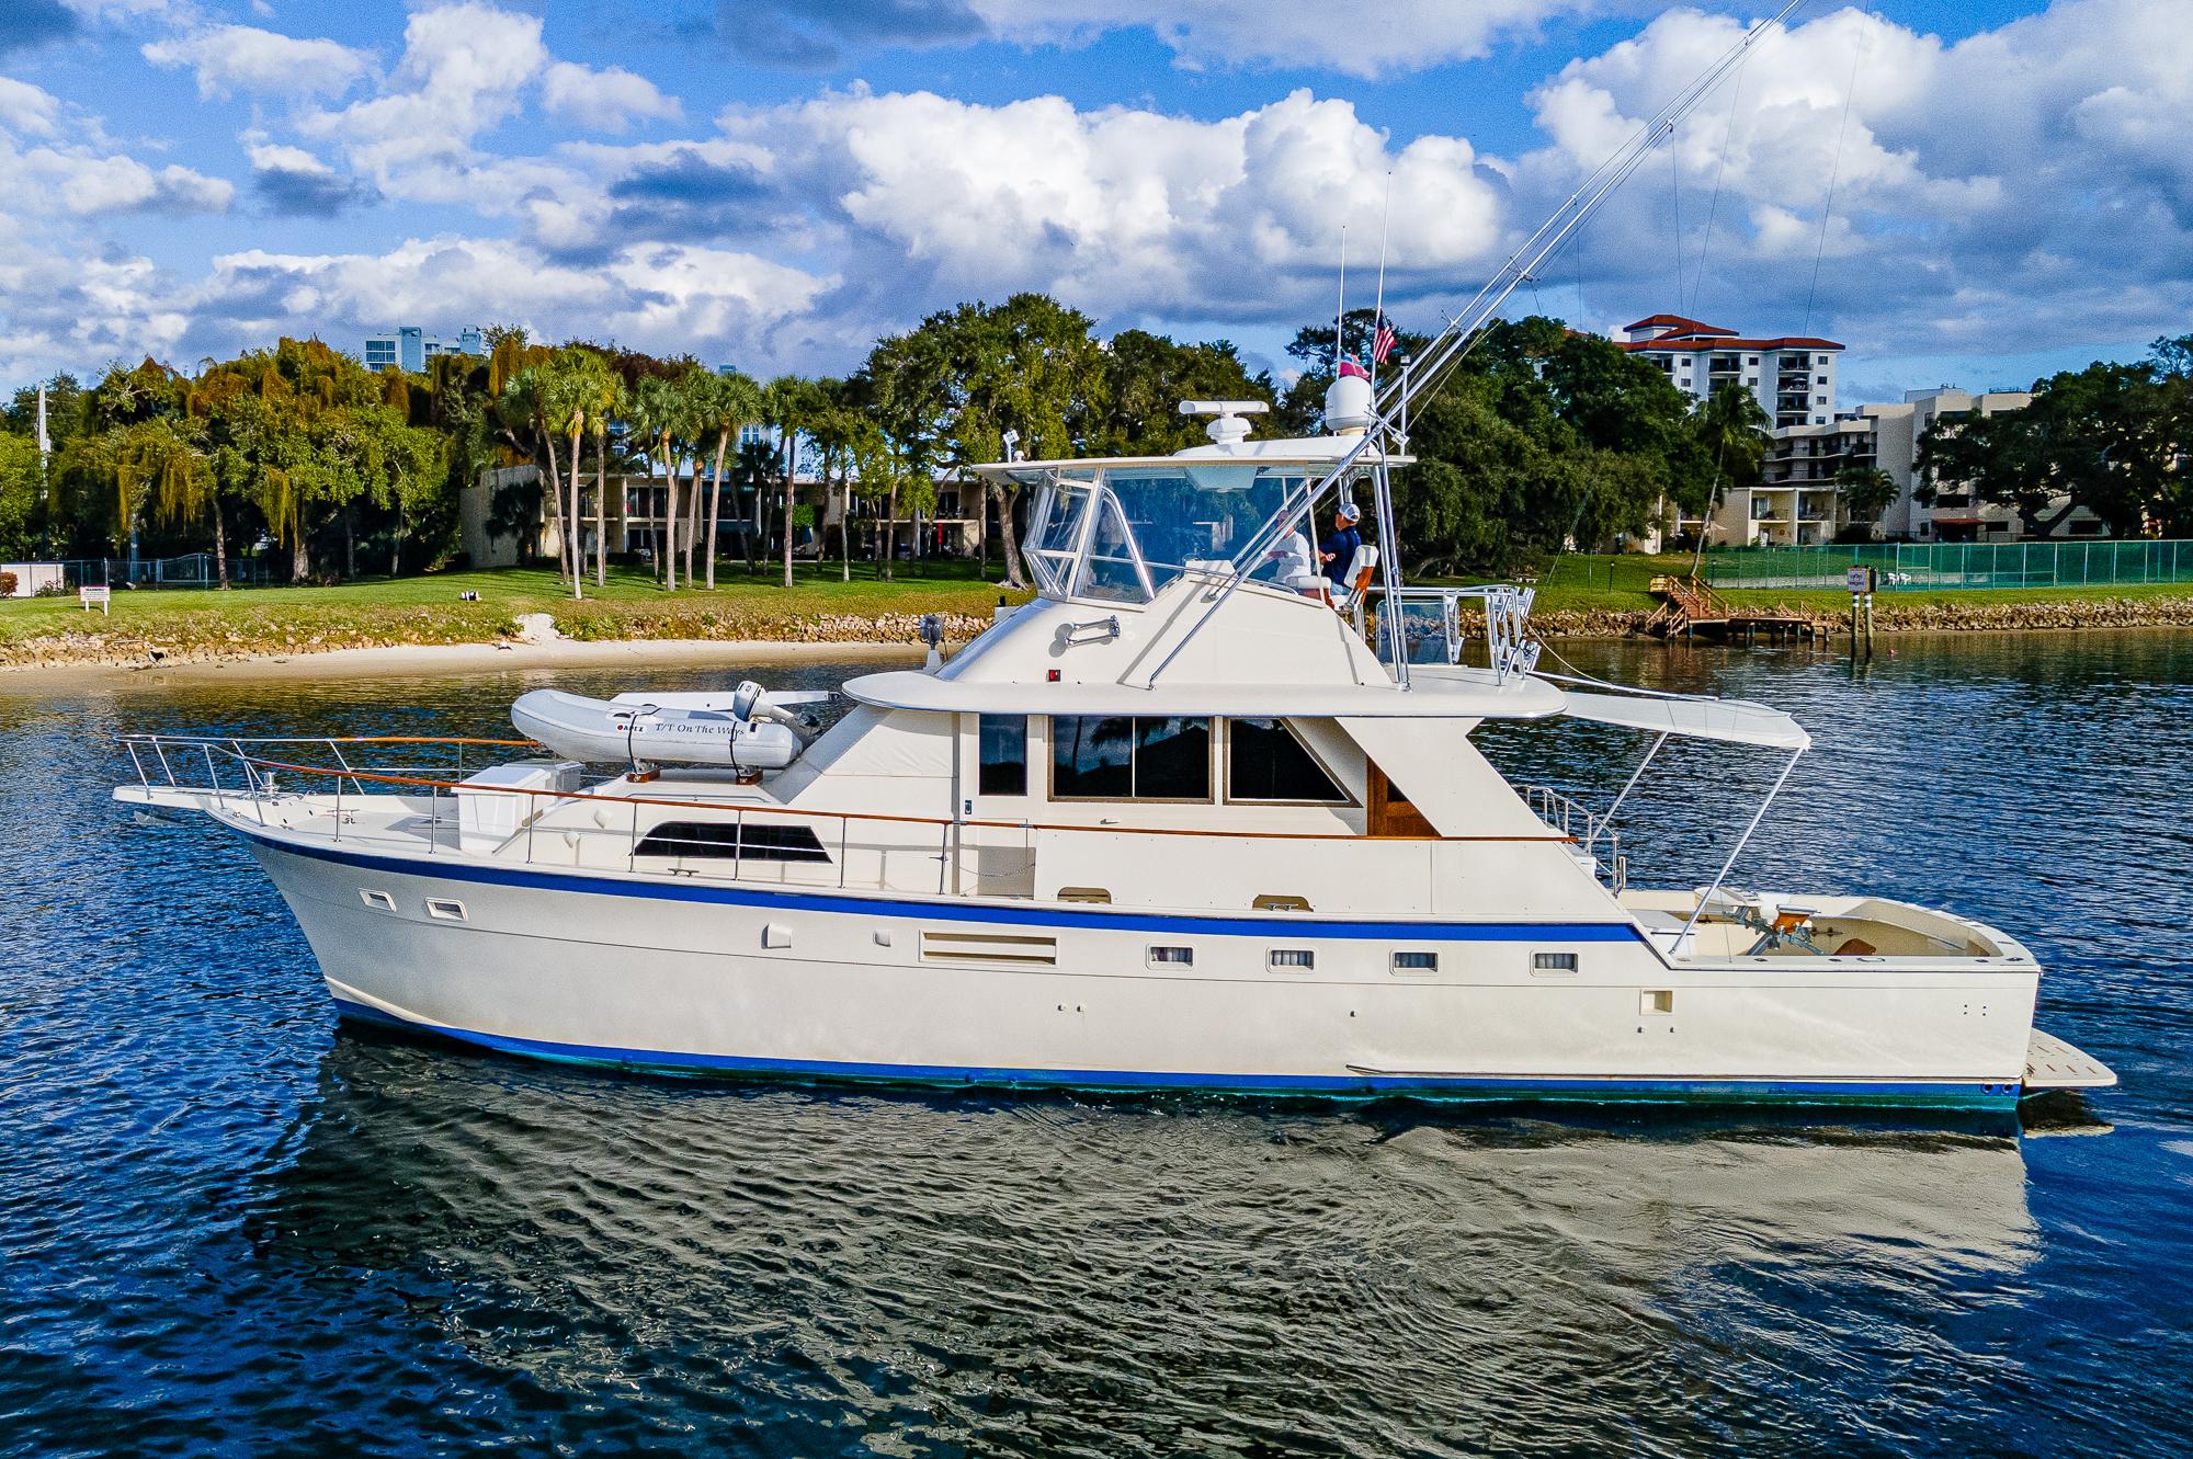
[[[1550,208],[1737,35],[1669,11],[1533,92],[1550,145],[1518,166],[1522,210]],[[1638,313],[1794,329],[1811,300],[1811,326],[1862,351],[1987,353],[2154,335],[2193,307],[2193,31],[2151,2],[2057,0],[1956,44],[1831,11],[1761,42],[1671,147],[1686,285],[1664,158],[1588,243],[1592,287]]]

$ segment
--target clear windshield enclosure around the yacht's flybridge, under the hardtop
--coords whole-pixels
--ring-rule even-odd
[[[1057,471],[1035,502],[1029,565],[1044,591],[1110,602],[1149,602],[1184,572],[1285,583],[1314,572],[1316,556],[1307,539],[1281,532],[1270,545],[1261,528],[1281,510],[1300,513],[1325,471],[1303,462]]]

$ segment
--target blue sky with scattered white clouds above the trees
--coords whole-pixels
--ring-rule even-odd
[[[0,0],[0,383],[397,320],[836,372],[1013,289],[1281,364],[1388,186],[1425,324],[1761,9]],[[1511,311],[1831,333],[1849,399],[2138,355],[2189,77],[2180,0],[1816,0]]]

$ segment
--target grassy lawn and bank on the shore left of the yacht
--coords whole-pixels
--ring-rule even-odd
[[[779,570],[781,572],[781,570]],[[29,640],[114,635],[175,651],[338,648],[364,644],[467,644],[511,633],[520,613],[550,613],[568,637],[800,637],[829,618],[897,613],[989,616],[1002,591],[974,563],[899,565],[877,583],[873,567],[798,563],[794,587],[779,576],[717,570],[717,587],[662,591],[645,572],[612,567],[572,602],[557,574],[542,567],[441,572],[336,587],[116,589],[114,613],[83,611],[66,598],[0,600],[0,646]],[[463,602],[474,591],[478,602]],[[1024,594],[1015,594],[1024,596]]]

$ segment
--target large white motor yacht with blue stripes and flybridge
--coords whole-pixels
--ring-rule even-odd
[[[1529,591],[1395,572],[1368,388],[1164,458],[985,467],[1039,596],[950,662],[803,697],[513,705],[428,747],[129,736],[116,800],[200,811],[346,1016],[625,1067],[1430,1100],[2009,1108],[2114,1076],[2033,1027],[2013,935],[1879,896],[1638,889],[1612,813],[1509,784],[1487,721],[1783,756],[1757,703],[1537,670]],[[1384,554],[1298,535],[1368,497]],[[1384,508],[1384,510],[1379,510]],[[478,765],[478,743],[452,745]],[[375,769],[379,767],[379,769]],[[1776,780],[1776,789],[1781,780]],[[1772,797],[1770,797],[1772,800]],[[1732,828],[1735,830],[1735,828]]]

